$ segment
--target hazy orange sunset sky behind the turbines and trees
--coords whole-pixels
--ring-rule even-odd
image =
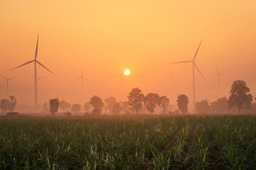
[[[157,92],[174,103],[178,94],[192,103],[191,64],[169,62],[191,60],[202,38],[196,64],[207,81],[196,73],[196,101],[228,96],[231,83],[241,79],[256,95],[256,1],[6,1],[0,3],[0,74],[16,76],[10,93],[19,104],[33,104],[33,64],[15,71],[13,67],[32,60],[39,33],[38,103],[59,97],[82,103],[79,81],[81,66],[90,81],[84,99],[115,96],[126,100],[140,78],[112,77],[126,67],[131,74],[145,68],[143,92]],[[218,93],[215,64],[220,71]],[[0,79],[0,83],[5,83]]]

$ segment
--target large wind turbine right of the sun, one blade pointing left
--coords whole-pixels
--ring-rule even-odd
[[[186,60],[186,61],[170,63],[170,64],[179,64],[179,63],[185,63],[185,62],[191,62],[192,63],[192,73],[193,73],[193,108],[194,108],[194,110],[195,110],[195,103],[196,103],[196,97],[195,97],[195,68],[198,71],[198,73],[202,76],[202,78],[205,80],[203,74],[200,72],[200,70],[198,69],[198,67],[196,66],[196,63],[195,63],[196,55],[198,53],[198,50],[200,48],[201,43],[202,43],[202,39],[201,39],[201,41],[199,43],[199,46],[198,46],[198,48],[196,50],[196,53],[195,53],[195,55],[194,55],[192,60]]]

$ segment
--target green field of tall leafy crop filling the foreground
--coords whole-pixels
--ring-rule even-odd
[[[0,169],[256,169],[256,116],[0,118]]]

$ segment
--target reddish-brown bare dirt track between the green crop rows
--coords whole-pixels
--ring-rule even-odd
[[[168,153],[168,150],[170,150],[170,148],[172,147],[172,145],[177,141],[177,138],[179,136],[179,132],[181,130],[181,126],[178,127],[178,129],[173,133],[172,137],[170,136],[170,141],[164,146],[164,149],[162,150],[161,153],[163,153],[163,155],[165,156],[166,153]],[[150,159],[147,163],[147,167],[143,168],[143,170],[145,169],[150,169],[150,167],[152,167],[154,165],[153,159]],[[142,170],[142,169],[141,169]]]

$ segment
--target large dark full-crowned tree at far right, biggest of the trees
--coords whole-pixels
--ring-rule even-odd
[[[242,80],[237,80],[232,83],[230,89],[230,97],[228,99],[228,106],[232,108],[237,106],[238,112],[241,113],[243,108],[249,109],[252,107],[252,94],[248,94],[250,89]]]

